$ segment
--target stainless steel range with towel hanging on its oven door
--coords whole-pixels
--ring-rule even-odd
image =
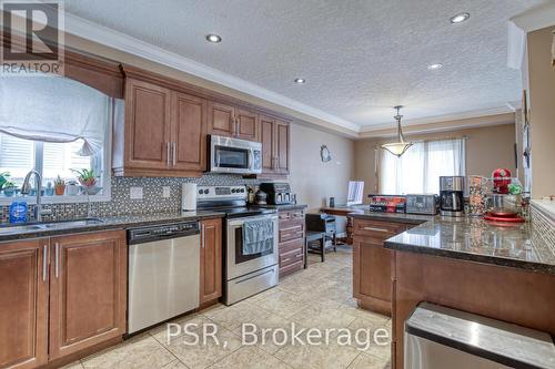
[[[278,285],[279,224],[275,209],[246,206],[245,186],[199,186],[196,208],[226,214],[223,242],[223,301],[225,305],[235,304]],[[271,223],[269,229],[273,232],[266,239],[271,247],[260,253],[245,247],[243,228],[249,222]]]

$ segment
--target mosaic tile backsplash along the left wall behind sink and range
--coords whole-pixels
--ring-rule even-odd
[[[181,207],[181,184],[196,183],[202,186],[258,185],[260,180],[245,180],[240,175],[205,174],[200,178],[125,178],[112,177],[112,199],[110,202],[44,204],[52,215],[46,221],[64,221],[87,216],[118,216],[124,214],[152,214],[179,212]],[[143,198],[131,199],[130,188],[142,187]],[[170,187],[170,197],[162,197],[162,187]],[[34,206],[29,206],[29,218]],[[0,223],[9,221],[9,205],[0,206]]]

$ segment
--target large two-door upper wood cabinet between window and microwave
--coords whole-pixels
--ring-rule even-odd
[[[206,165],[205,137],[204,99],[125,80],[124,126],[114,127],[115,175],[200,176]]]

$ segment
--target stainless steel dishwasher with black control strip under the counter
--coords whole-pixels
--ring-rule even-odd
[[[128,230],[128,334],[199,307],[199,222]]]

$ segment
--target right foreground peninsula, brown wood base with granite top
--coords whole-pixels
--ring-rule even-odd
[[[533,224],[437,216],[384,247],[392,252],[393,368],[403,368],[404,322],[422,301],[555,335],[555,245]]]

